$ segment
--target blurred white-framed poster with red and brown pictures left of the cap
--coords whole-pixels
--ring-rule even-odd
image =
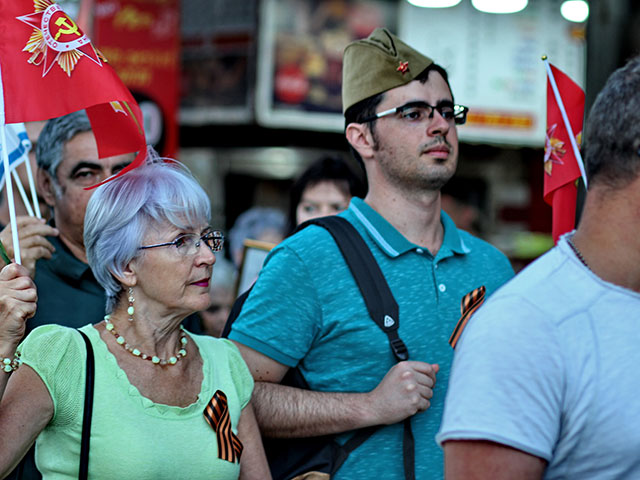
[[[377,27],[395,30],[385,0],[265,0],[256,118],[269,127],[342,131],[342,52]]]

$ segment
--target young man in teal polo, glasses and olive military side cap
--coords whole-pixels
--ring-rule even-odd
[[[229,337],[256,380],[263,434],[309,437],[385,425],[335,478],[405,478],[403,424],[412,417],[415,477],[442,478],[434,441],[461,298],[495,291],[513,270],[489,244],[457,230],[440,209],[454,174],[455,106],[446,72],[384,29],[344,55],[346,137],[369,192],[341,214],[361,234],[399,305],[411,360],[396,363],[331,235],[311,226],[276,247]],[[311,390],[279,385],[300,367]],[[436,382],[437,378],[437,382]]]

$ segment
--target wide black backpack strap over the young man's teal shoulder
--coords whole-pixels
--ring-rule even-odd
[[[387,334],[396,360],[408,360],[409,351],[398,336],[398,303],[362,236],[351,223],[335,215],[314,218],[300,225],[297,230],[310,224],[319,225],[331,234],[351,269],[371,319]]]

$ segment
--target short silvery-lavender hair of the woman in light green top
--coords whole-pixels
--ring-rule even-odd
[[[123,287],[114,277],[142,252],[138,247],[151,224],[165,221],[179,229],[208,223],[207,194],[183,164],[148,160],[98,187],[84,219],[84,245],[89,266],[106,290],[111,313]]]

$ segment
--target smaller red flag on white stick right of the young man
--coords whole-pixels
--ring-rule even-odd
[[[582,139],[584,91],[556,67],[551,64],[549,67],[579,146]],[[557,242],[560,235],[575,227],[576,180],[581,175],[578,162],[582,162],[582,159],[576,158],[551,82],[552,79],[547,78],[544,200],[553,210],[552,235],[554,242]]]

